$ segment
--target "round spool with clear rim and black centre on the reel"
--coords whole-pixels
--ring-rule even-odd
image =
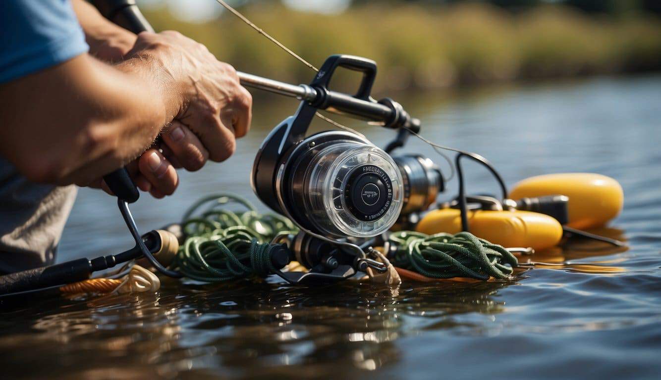
[[[399,216],[403,193],[392,158],[344,131],[318,133],[296,144],[276,175],[280,208],[305,229],[334,238],[385,232]]]

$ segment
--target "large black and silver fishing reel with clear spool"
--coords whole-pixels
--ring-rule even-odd
[[[329,90],[338,67],[363,73],[356,94]],[[276,126],[257,152],[253,191],[299,226],[301,233],[288,245],[292,259],[311,269],[302,276],[287,274],[290,282],[346,278],[366,265],[383,270],[380,263],[366,259],[366,247],[360,243],[387,232],[402,214],[426,210],[444,190],[440,170],[422,156],[392,157],[348,131],[306,136],[317,110],[332,110],[399,129],[389,149],[403,146],[409,131],[417,133],[420,123],[397,102],[371,98],[375,75],[374,61],[332,55],[311,84],[302,85],[314,96],[302,96],[295,115]]]

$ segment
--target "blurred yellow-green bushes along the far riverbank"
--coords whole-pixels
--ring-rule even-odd
[[[379,65],[376,90],[661,69],[661,19],[644,14],[588,16],[552,5],[509,13],[485,3],[365,5],[340,15],[297,13],[260,3],[241,11],[317,67],[334,53],[374,59]],[[156,30],[179,30],[239,71],[296,83],[312,78],[308,67],[227,12],[203,24],[178,21],[165,9],[147,9],[145,14]],[[340,89],[356,80],[342,76],[334,84]]]

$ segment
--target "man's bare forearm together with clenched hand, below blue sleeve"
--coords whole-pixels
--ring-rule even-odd
[[[161,132],[189,170],[234,152],[252,100],[230,65],[176,32],[140,34],[126,58],[83,54],[0,86],[0,154],[32,181],[88,185]]]

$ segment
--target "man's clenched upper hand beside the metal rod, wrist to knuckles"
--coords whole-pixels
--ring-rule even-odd
[[[250,127],[253,103],[233,67],[173,31],[139,34],[128,57],[158,61],[161,75],[171,83],[167,90],[178,109],[162,136],[186,170],[233,154],[235,137],[243,137]]]

